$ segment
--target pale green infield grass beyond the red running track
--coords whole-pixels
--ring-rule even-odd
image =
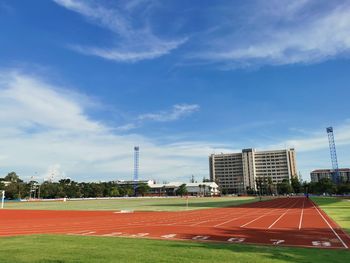
[[[255,197],[205,197],[189,198],[189,210],[235,206],[254,202]],[[7,202],[6,209],[42,210],[138,210],[181,211],[186,210],[186,198],[125,198],[108,200],[55,201],[55,202]]]

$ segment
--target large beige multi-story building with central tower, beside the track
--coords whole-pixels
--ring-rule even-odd
[[[257,190],[257,182],[262,180],[277,184],[297,176],[294,149],[212,154],[209,169],[211,181],[226,193],[245,193],[247,189]]]

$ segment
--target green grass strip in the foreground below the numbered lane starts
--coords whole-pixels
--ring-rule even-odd
[[[0,262],[347,262],[348,250],[37,235],[0,238]]]

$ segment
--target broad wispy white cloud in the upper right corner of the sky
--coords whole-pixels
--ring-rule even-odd
[[[255,1],[240,11],[246,18],[225,17],[191,58],[250,67],[318,63],[350,53],[348,1]]]

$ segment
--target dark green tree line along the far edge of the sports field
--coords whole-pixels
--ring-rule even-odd
[[[350,194],[349,182],[336,185],[328,178],[323,178],[319,182],[301,182],[297,177],[293,177],[291,180],[284,179],[278,184],[273,184],[268,177],[257,179],[256,185],[257,190],[247,188],[246,193],[248,195]],[[71,179],[62,179],[58,182],[45,181],[39,184],[37,181],[24,182],[15,172],[11,172],[4,178],[0,178],[0,190],[5,190],[7,199],[52,199],[144,196],[149,192],[150,187],[147,184],[139,184],[135,192],[133,185],[119,185],[114,181],[78,183]],[[186,194],[186,184],[183,184],[177,189],[176,195]]]

